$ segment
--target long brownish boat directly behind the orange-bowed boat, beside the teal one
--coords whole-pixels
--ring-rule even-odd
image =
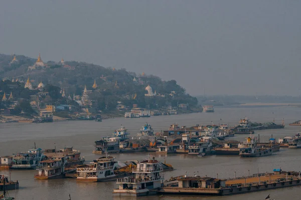
[[[67,163],[66,166],[71,166],[74,164],[83,164],[85,162],[85,157],[80,156],[81,152],[79,150],[73,149],[71,147],[64,147],[64,149],[46,149],[44,155],[48,158],[52,158],[55,156],[66,156]]]

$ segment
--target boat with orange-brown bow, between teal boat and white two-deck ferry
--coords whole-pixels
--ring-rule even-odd
[[[68,172],[75,171],[76,168],[65,168],[67,164],[65,155],[55,155],[52,158],[47,158],[41,161],[42,166],[39,167],[39,173],[35,175],[36,179],[54,179],[63,178]]]

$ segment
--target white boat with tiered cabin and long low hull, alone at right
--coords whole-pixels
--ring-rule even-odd
[[[239,155],[241,157],[261,157],[273,153],[272,147],[260,148],[257,146],[257,140],[254,137],[250,136],[246,139],[247,140],[243,143],[245,147],[240,148],[239,150]]]

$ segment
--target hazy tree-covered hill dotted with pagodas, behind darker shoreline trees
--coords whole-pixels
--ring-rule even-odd
[[[158,76],[143,72],[136,74],[124,68],[114,69],[77,61],[43,61],[45,67],[30,70],[29,66],[34,65],[37,59],[16,55],[17,61],[12,62],[13,58],[14,55],[0,54],[0,78],[26,81],[29,77],[34,86],[42,80],[46,85],[64,88],[67,96],[81,95],[86,85],[88,90],[93,90],[90,95],[92,100],[109,99],[114,104],[122,101],[128,106],[137,103],[140,107],[160,108],[181,103],[187,103],[190,107],[198,104],[197,98],[187,94],[176,80],[163,81]],[[94,80],[97,88],[92,87]],[[144,96],[147,85],[157,95]]]

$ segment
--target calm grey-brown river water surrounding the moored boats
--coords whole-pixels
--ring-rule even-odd
[[[138,129],[145,122],[152,124],[155,131],[169,128],[172,123],[192,126],[195,124],[215,124],[227,123],[230,126],[238,124],[240,118],[248,116],[251,121],[265,122],[275,118],[276,123],[281,123],[285,119],[284,129],[258,130],[255,134],[260,134],[260,141],[267,141],[271,134],[279,138],[293,135],[301,130],[299,126],[289,126],[289,122],[300,119],[300,107],[289,106],[230,106],[216,107],[214,113],[191,113],[170,116],[152,116],[149,118],[113,118],[102,122],[95,121],[61,121],[53,123],[1,123],[0,124],[0,155],[11,155],[12,153],[26,151],[34,146],[43,149],[64,148],[73,146],[85,156],[86,162],[99,157],[93,154],[93,144],[106,135],[111,135],[114,129],[124,125],[131,135],[136,135]],[[238,135],[233,139],[243,141],[246,135]],[[232,139],[231,138],[231,139]],[[272,171],[273,168],[281,167],[283,170],[301,170],[301,149],[281,148],[279,152],[271,156],[257,158],[241,158],[239,156],[210,155],[197,157],[186,154],[156,155],[156,159],[174,166],[174,171],[164,172],[166,179],[187,173],[195,173],[202,176],[228,178],[251,173]],[[144,159],[146,152],[112,154],[116,160]],[[19,199],[68,199],[69,193],[73,199],[129,199],[128,197],[112,196],[115,182],[76,182],[75,179],[53,179],[35,180],[36,170],[12,170],[13,180],[19,180],[20,188],[10,190],[11,196]],[[0,174],[9,175],[9,171],[2,170]],[[269,193],[271,198],[279,199],[299,199],[299,189],[301,186],[258,191],[230,196],[176,196],[164,195],[140,197],[140,199],[264,199]]]

